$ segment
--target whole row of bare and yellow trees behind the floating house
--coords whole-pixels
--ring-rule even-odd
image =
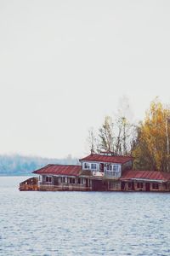
[[[134,124],[128,117],[130,108],[125,100],[115,116],[105,116],[98,131],[88,131],[88,148],[132,155],[134,169],[170,172],[170,108],[156,98],[144,120]]]

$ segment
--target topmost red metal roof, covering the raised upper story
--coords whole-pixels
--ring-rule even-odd
[[[82,158],[80,161],[94,161],[94,162],[124,164],[129,160],[133,160],[133,157],[122,156],[122,155],[89,154],[88,156]]]

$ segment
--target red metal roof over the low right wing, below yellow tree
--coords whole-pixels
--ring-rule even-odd
[[[167,181],[167,180],[170,180],[170,173],[158,172],[158,171],[133,171],[133,170],[128,170],[122,173],[121,180],[128,180],[132,178]]]

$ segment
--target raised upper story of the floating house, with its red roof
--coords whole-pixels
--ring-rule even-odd
[[[132,169],[131,156],[115,155],[112,152],[89,154],[80,160],[82,171],[91,171],[93,176],[119,178],[122,171]]]

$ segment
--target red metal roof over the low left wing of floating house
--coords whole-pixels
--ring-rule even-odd
[[[82,166],[48,165],[33,173],[78,176]]]

